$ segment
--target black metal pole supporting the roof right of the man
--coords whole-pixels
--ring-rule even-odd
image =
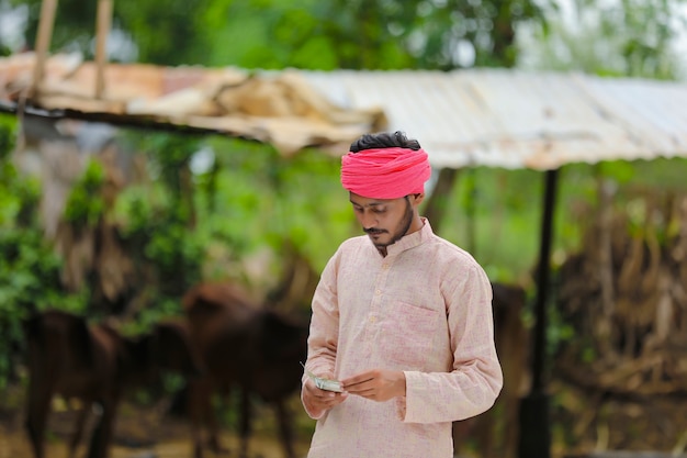
[[[520,403],[518,443],[519,458],[551,457],[551,424],[549,418],[549,395],[544,382],[547,356],[547,300],[551,266],[553,214],[559,170],[545,172],[543,213],[539,264],[537,266],[537,297],[534,301],[534,329],[532,339],[532,387]]]

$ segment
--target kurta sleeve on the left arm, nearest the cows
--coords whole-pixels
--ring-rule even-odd
[[[339,252],[327,262],[315,289],[312,303],[309,335],[307,338],[307,361],[305,367],[316,376],[333,378],[339,339],[339,304],[336,288]],[[307,376],[303,375],[303,383]],[[323,412],[309,412],[311,418],[317,420]]]

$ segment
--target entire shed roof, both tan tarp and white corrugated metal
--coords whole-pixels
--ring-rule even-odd
[[[31,53],[0,58],[0,110],[23,108],[34,63]],[[52,56],[27,108],[244,136],[284,154],[306,146],[344,154],[386,119],[383,129],[419,139],[437,168],[543,170],[687,156],[684,82],[517,69],[251,72],[108,64],[97,98],[95,75],[93,63]]]

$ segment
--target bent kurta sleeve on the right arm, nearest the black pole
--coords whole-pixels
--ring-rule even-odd
[[[488,410],[503,386],[494,345],[492,286],[474,265],[442,288],[447,302],[451,372],[405,371],[406,396],[397,400],[407,423],[453,422]]]

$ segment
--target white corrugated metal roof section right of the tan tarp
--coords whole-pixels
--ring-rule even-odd
[[[507,69],[301,74],[338,104],[380,107],[438,168],[687,156],[685,83]]]

